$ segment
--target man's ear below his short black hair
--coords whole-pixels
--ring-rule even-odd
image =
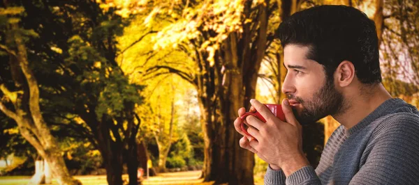
[[[337,66],[335,71],[337,85],[340,87],[349,86],[355,78],[355,66],[350,61],[343,61]]]

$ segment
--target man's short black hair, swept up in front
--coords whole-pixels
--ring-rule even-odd
[[[380,83],[376,27],[365,13],[349,6],[316,6],[297,12],[279,25],[286,45],[310,48],[307,58],[324,66],[332,77],[342,61],[351,61],[362,83]]]

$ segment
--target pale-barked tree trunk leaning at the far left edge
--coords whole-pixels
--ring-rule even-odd
[[[5,81],[1,81],[1,97],[6,99],[8,104],[0,102],[0,109],[15,120],[20,134],[47,161],[59,184],[80,184],[68,173],[57,140],[50,133],[41,114],[38,81],[29,66],[30,61],[25,46],[25,41],[31,36],[38,35],[33,30],[22,29],[18,24],[20,22],[18,15],[23,12],[22,7],[8,7],[6,4],[6,8],[2,8],[0,13],[2,19],[6,19],[1,25],[4,44],[0,47],[8,54],[10,76],[14,82],[14,84],[5,84]],[[10,104],[13,105],[13,109],[9,108]]]

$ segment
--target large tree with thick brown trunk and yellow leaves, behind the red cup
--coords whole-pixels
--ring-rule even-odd
[[[153,5],[159,7],[149,11],[146,24],[152,24],[154,17],[173,21],[157,33],[157,37],[166,39],[158,40],[156,48],[175,46],[186,54],[193,54],[196,61],[197,71],[155,65],[147,72],[172,72],[196,86],[205,138],[205,180],[252,184],[253,154],[238,146],[240,136],[229,123],[237,117],[234,110],[248,107],[249,99],[255,95],[260,62],[271,43],[267,38],[272,40],[274,35],[267,31],[267,20],[277,3],[150,1],[133,4],[145,10]],[[242,81],[243,77],[249,81]],[[222,172],[225,169],[227,173]]]

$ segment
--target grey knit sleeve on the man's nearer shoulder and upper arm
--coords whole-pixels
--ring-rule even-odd
[[[418,184],[419,117],[392,115],[371,137],[365,163],[350,184]]]

